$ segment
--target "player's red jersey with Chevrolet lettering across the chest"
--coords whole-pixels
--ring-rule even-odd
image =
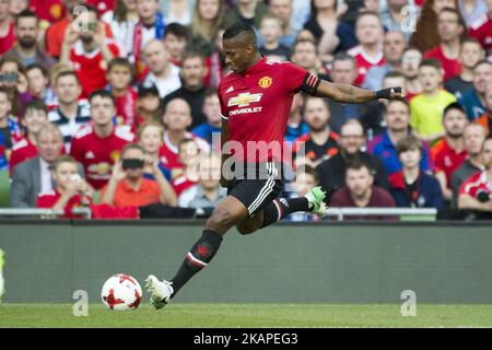
[[[307,71],[289,61],[262,58],[246,72],[229,73],[219,84],[221,113],[227,119],[231,153],[243,162],[281,161],[289,149],[283,144],[292,98],[305,79],[316,82]],[[309,82],[306,82],[309,84]],[[242,152],[233,142],[242,145]],[[257,152],[261,143],[268,145]]]

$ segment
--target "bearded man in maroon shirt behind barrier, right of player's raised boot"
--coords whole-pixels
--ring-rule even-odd
[[[345,186],[335,192],[330,207],[395,207],[395,200],[387,190],[374,186],[373,184],[374,176],[372,175],[370,165],[363,162],[350,163],[347,166]],[[356,217],[349,218],[355,219]],[[361,217],[360,219],[364,217]]]

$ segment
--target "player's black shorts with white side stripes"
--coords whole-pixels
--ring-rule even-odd
[[[248,210],[249,217],[265,209],[283,191],[283,172],[279,163],[257,164],[255,174],[243,178],[233,178],[227,183],[227,196],[237,198]]]

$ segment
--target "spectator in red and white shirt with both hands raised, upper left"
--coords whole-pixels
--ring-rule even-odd
[[[70,25],[60,55],[60,62],[71,65],[79,75],[83,97],[106,86],[107,66],[119,55],[116,42],[107,38],[105,25],[93,7],[87,7],[86,28],[80,31]]]

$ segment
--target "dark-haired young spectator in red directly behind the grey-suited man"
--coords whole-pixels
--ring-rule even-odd
[[[25,137],[17,141],[12,148],[10,155],[9,170],[12,174],[15,165],[37,156],[36,140],[39,130],[47,125],[48,108],[40,101],[32,101],[27,103],[22,125],[26,129]]]

